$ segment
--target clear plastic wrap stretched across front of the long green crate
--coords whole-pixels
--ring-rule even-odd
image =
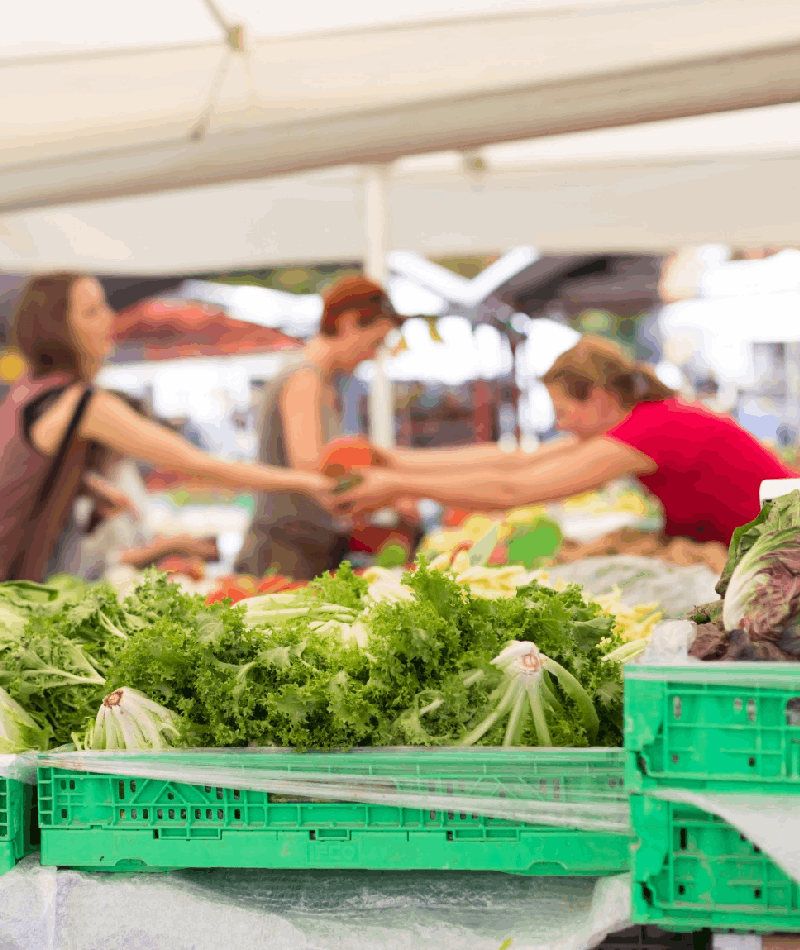
[[[469,812],[532,824],[627,832],[621,749],[175,749],[63,752],[39,764],[79,772]]]

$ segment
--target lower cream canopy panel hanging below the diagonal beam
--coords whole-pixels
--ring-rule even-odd
[[[2,105],[0,105],[0,109]],[[800,244],[800,105],[399,160],[389,248],[428,257]],[[357,166],[0,215],[0,269],[181,274],[365,252]]]

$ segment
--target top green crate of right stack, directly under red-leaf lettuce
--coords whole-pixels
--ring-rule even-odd
[[[800,794],[800,666],[625,670],[625,782]]]

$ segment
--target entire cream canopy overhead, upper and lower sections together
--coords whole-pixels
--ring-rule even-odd
[[[38,0],[4,11],[0,267],[358,258],[354,163],[800,99],[794,0],[453,6]],[[594,157],[589,138],[582,154],[570,140],[560,153],[490,149],[485,173],[452,155],[417,159],[388,185],[392,244],[644,250],[712,227],[717,239],[790,240],[798,216],[776,195],[794,180],[791,123],[766,145],[753,128],[752,149],[722,154],[723,133],[711,159],[686,149],[692,135],[713,144],[713,125],[687,126],[677,155],[663,133],[660,147],[605,133]]]

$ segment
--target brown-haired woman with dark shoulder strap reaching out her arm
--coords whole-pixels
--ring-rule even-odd
[[[91,473],[93,444],[228,488],[326,496],[314,472],[213,458],[98,388],[113,326],[90,277],[38,277],[22,295],[13,333],[27,371],[0,403],[0,580],[44,579],[80,494],[130,508]]]

